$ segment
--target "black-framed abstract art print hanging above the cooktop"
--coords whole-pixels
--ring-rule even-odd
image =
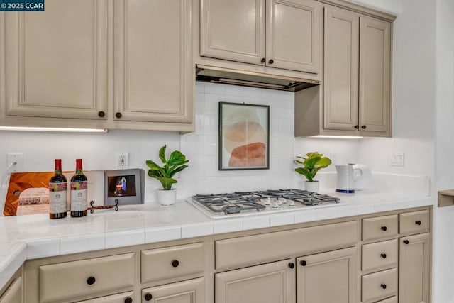
[[[270,106],[219,102],[219,170],[270,169]]]

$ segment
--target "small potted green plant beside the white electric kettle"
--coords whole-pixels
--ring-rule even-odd
[[[306,158],[299,155],[296,157],[297,159],[294,161],[301,167],[295,168],[295,172],[304,175],[307,179],[304,183],[304,189],[308,192],[319,192],[319,181],[314,180],[314,178],[319,170],[331,164],[330,158],[323,157],[323,154],[318,152],[307,153]]]

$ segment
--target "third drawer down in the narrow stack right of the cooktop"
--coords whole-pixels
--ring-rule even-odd
[[[397,293],[397,269],[362,276],[362,301],[380,299]]]

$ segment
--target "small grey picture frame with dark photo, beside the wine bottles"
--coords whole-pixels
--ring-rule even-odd
[[[144,172],[133,170],[106,170],[104,172],[104,205],[143,204]]]

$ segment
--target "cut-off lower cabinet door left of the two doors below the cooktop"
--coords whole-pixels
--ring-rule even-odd
[[[142,290],[143,303],[205,303],[205,281],[176,282]]]

